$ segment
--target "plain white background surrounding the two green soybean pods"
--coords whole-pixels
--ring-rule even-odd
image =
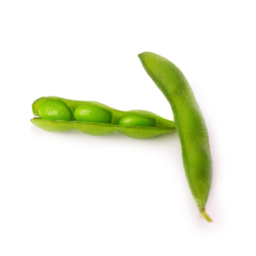
[[[254,1],[0,2],[0,255],[255,255]],[[42,96],[172,119],[137,54],[187,77],[213,157],[208,223],[176,135],[33,126]]]

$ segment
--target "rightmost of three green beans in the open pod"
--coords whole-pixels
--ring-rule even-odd
[[[155,124],[156,124],[155,118],[143,117],[140,115],[127,115],[122,117],[119,121],[119,125],[154,127]]]

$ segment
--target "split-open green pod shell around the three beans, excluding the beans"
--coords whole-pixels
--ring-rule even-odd
[[[49,120],[49,119],[41,119],[39,117],[38,109],[40,105],[46,100],[60,100],[67,104],[67,106],[71,109],[72,114],[74,115],[74,111],[81,105],[90,104],[92,106],[97,106],[99,108],[103,108],[105,110],[109,110],[112,113],[112,122],[111,124],[102,124],[95,122],[85,122],[85,121],[75,121],[74,117],[72,121],[60,121],[60,120]],[[121,111],[116,110],[114,108],[110,108],[102,103],[96,101],[75,101],[70,99],[63,99],[60,97],[41,97],[36,99],[32,104],[32,111],[34,114],[34,118],[31,119],[31,122],[42,128],[43,130],[47,130],[50,132],[67,132],[70,130],[79,130],[80,132],[89,134],[89,135],[109,135],[112,133],[121,133],[128,137],[132,137],[135,139],[148,139],[152,137],[156,137],[159,135],[163,135],[166,133],[175,131],[175,124],[173,121],[164,119],[152,112],[148,112],[146,110],[131,110],[131,111]],[[141,115],[144,117],[154,118],[156,120],[155,127],[146,127],[146,126],[122,126],[119,125],[119,120],[129,114]]]

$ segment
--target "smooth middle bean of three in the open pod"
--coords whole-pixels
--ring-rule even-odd
[[[104,108],[86,104],[76,108],[74,118],[81,122],[111,124],[112,114]]]

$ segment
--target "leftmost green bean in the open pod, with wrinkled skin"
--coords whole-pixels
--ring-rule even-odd
[[[39,116],[42,119],[71,121],[72,111],[63,101],[48,99],[44,101],[39,109]]]

